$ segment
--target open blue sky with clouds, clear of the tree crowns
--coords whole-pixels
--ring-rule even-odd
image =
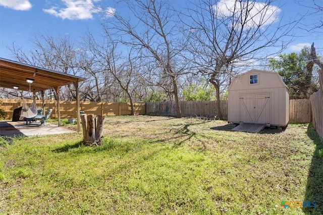
[[[312,0],[306,1],[312,3]],[[281,5],[279,21],[288,22],[311,13],[310,9],[297,2],[304,4],[302,0],[276,2]],[[185,0],[173,0],[173,3],[176,7],[190,7]],[[81,36],[87,30],[92,31],[94,35],[99,35],[101,17],[96,9],[107,10],[111,15],[115,11],[120,12],[119,10],[127,13],[126,9],[114,8],[112,1],[106,0],[0,0],[0,57],[12,59],[7,46],[11,46],[13,42],[28,51],[31,48],[30,40],[43,32],[52,36],[69,35],[75,40],[81,40]],[[313,22],[322,19],[322,16],[322,13],[306,16],[299,26],[307,28]],[[109,19],[109,16],[105,19]],[[317,53],[323,55],[322,34],[308,33],[301,28],[297,29],[297,37],[285,52],[299,51],[304,45],[314,42]],[[322,28],[320,32],[322,33]]]

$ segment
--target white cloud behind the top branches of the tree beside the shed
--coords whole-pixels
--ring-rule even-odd
[[[220,17],[228,17],[234,14],[235,18],[239,20],[241,15],[244,16],[247,12],[246,10],[249,10],[245,25],[248,28],[270,25],[278,21],[278,16],[281,12],[281,9],[276,6],[266,5],[261,2],[241,1],[240,3],[236,0],[221,0],[213,6],[213,10]]]

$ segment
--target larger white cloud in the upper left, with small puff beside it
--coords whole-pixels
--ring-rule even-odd
[[[68,19],[68,20],[86,20],[92,19],[93,14],[99,13],[99,8],[94,6],[95,2],[100,0],[62,0],[66,8],[51,7],[50,9],[43,9],[45,13],[50,15]],[[109,14],[114,14],[115,9],[107,8]],[[110,15],[112,16],[112,15]]]

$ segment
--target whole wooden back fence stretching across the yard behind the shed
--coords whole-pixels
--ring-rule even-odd
[[[319,106],[319,96],[317,93],[311,97],[312,104],[315,105],[315,116],[317,123],[322,124],[322,106]],[[321,100],[320,100],[321,101]],[[27,100],[28,104],[32,100]],[[37,100],[37,107],[41,108],[42,101]],[[21,99],[0,99],[0,105],[7,113],[7,118],[11,119],[14,109],[21,107]],[[212,118],[217,116],[216,101],[181,101],[181,111],[183,116],[207,116]],[[61,117],[62,118],[76,118],[76,102],[61,101]],[[135,114],[148,115],[170,115],[176,116],[175,101],[167,102],[141,102],[134,103]],[[53,109],[51,118],[57,118],[57,103],[56,101],[45,101],[45,111]],[[87,114],[95,115],[131,115],[130,103],[118,102],[80,102],[80,109]],[[221,101],[221,110],[224,119],[228,118],[228,102]],[[314,114],[314,112],[313,112]],[[290,100],[289,102],[289,121],[290,122],[311,122],[311,102],[307,99]]]

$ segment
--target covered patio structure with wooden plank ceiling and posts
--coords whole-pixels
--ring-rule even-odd
[[[80,94],[79,82],[84,78],[72,76],[49,69],[0,58],[0,87],[30,91],[33,93],[54,89],[57,98],[58,126],[61,126],[60,88],[73,84],[76,89],[77,130],[80,132]],[[28,82],[27,82],[28,81]],[[30,87],[29,87],[30,86]],[[44,105],[44,98],[43,98]]]

